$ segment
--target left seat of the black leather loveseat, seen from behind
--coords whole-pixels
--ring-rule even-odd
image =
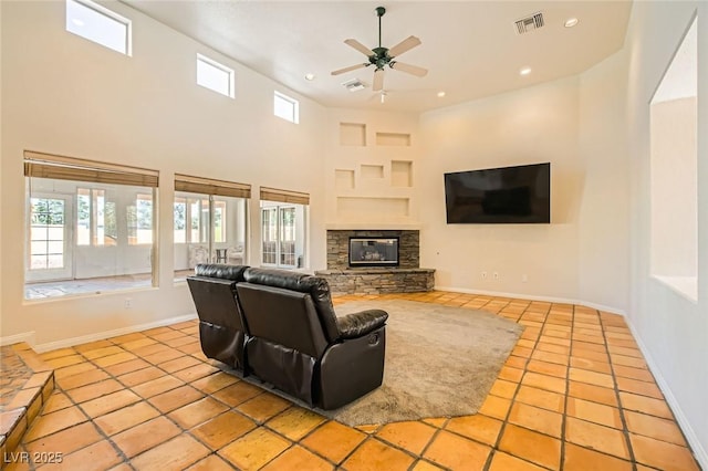
[[[208,358],[243,371],[246,329],[236,300],[236,284],[248,266],[199,264],[187,278],[199,316],[199,341]]]

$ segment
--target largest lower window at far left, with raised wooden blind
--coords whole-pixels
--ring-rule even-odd
[[[157,171],[25,151],[24,175],[27,299],[154,284]]]

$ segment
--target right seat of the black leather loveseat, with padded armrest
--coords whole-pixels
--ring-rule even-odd
[[[249,268],[236,284],[248,369],[312,406],[339,408],[381,386],[388,314],[336,317],[323,278]]]

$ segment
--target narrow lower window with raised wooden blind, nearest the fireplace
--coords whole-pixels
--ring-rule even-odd
[[[310,196],[261,187],[261,262],[296,269],[306,266]]]

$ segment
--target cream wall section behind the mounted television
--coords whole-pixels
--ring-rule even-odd
[[[577,77],[421,116],[420,264],[436,269],[438,287],[577,299],[586,177],[579,116]],[[551,163],[550,224],[446,223],[442,174],[544,161]]]

